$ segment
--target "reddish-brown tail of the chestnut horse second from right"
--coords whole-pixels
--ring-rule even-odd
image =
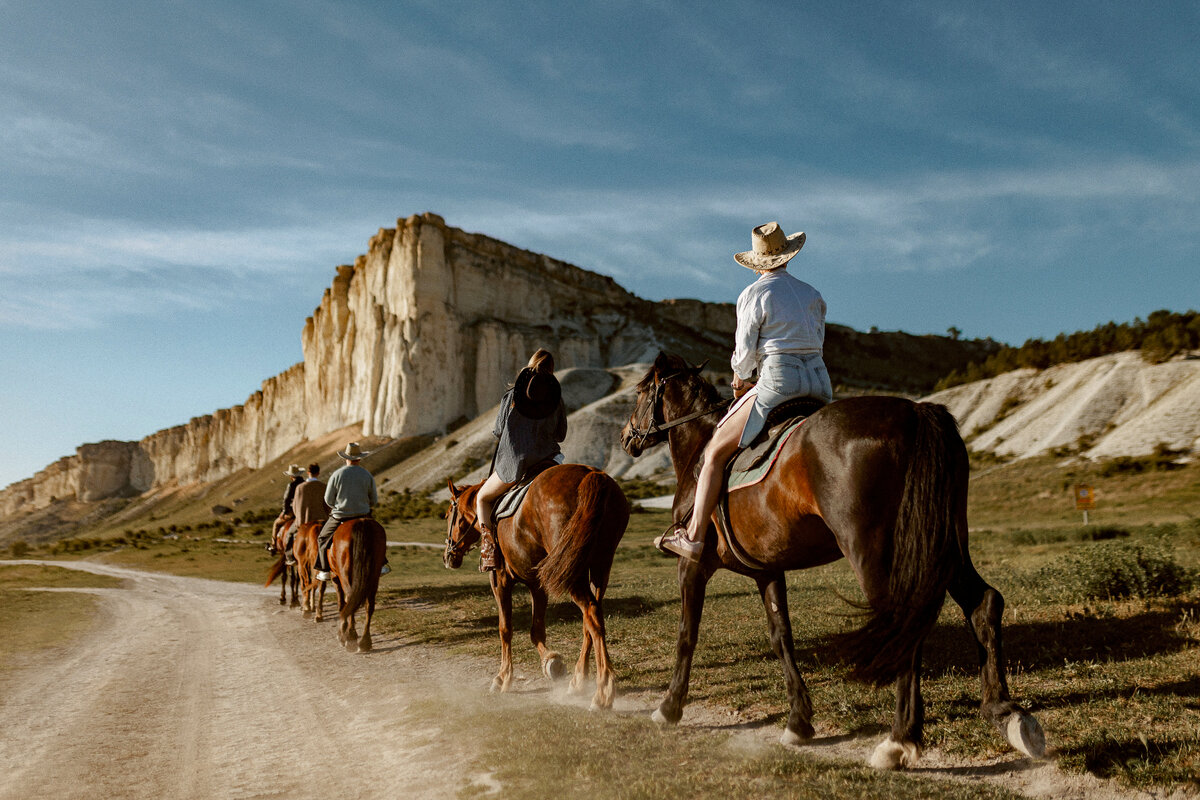
[[[620,536],[625,533],[625,525],[620,524],[612,547],[596,549],[596,543],[606,530],[618,522],[608,518],[612,506],[624,509],[625,519],[629,519],[629,503],[617,482],[599,470],[584,475],[576,492],[575,510],[558,535],[558,547],[547,553],[538,565],[538,578],[547,594],[556,597],[587,596],[593,572],[600,583],[607,585],[612,552],[617,549],[617,541],[620,541]],[[606,554],[600,559],[604,563],[593,564],[594,554],[596,558]],[[596,590],[602,594],[605,585],[598,583]]]

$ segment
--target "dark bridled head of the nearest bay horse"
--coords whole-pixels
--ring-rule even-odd
[[[637,384],[637,402],[629,422],[620,429],[622,450],[637,458],[647,449],[666,440],[666,432],[673,427],[671,419],[692,410],[695,405],[715,402],[712,384],[700,378],[706,363],[692,367],[680,356],[659,353],[654,366]],[[707,391],[698,390],[700,384]]]

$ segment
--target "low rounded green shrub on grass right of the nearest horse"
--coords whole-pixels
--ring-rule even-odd
[[[1098,542],[1081,545],[1027,578],[1031,588],[1064,602],[1174,597],[1196,584],[1196,573],[1181,566],[1159,543]]]

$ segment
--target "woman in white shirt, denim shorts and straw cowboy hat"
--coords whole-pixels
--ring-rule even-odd
[[[696,482],[696,499],[688,525],[677,524],[655,542],[659,548],[689,559],[704,552],[704,531],[721,492],[725,464],[738,447],[754,441],[767,413],[793,397],[833,399],[824,347],[826,303],[821,293],[787,273],[804,247],[804,234],[785,236],[778,222],[751,231],[754,249],[737,253],[738,264],[758,279],[738,297],[738,327],[733,357],[733,393],[739,398],[726,413],[704,447]],[[758,369],[758,383],[750,378]]]

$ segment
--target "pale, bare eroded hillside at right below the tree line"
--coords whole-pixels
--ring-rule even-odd
[[[967,446],[998,456],[1142,456],[1200,449],[1200,357],[1147,363],[1135,351],[1016,369],[937,392]]]

